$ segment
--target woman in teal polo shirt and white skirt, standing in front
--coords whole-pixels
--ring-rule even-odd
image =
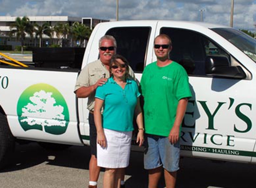
[[[134,117],[139,130],[137,143],[141,146],[144,141],[143,115],[138,85],[128,78],[127,60],[121,55],[113,56],[109,71],[112,76],[97,88],[95,95],[97,165],[105,168],[104,188],[119,188],[120,171],[129,165]]]

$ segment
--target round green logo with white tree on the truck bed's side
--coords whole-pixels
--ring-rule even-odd
[[[48,84],[29,86],[17,104],[19,123],[24,131],[38,129],[61,135],[67,130],[69,112],[62,94]]]

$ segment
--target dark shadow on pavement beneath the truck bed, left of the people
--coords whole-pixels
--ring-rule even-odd
[[[65,150],[46,150],[38,143],[16,144],[12,163],[0,172],[12,172],[30,168],[40,163],[50,165],[88,169],[90,148],[71,146]]]

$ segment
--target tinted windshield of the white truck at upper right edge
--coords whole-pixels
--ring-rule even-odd
[[[256,40],[254,38],[248,36],[242,31],[232,28],[214,28],[211,30],[226,38],[256,62]]]

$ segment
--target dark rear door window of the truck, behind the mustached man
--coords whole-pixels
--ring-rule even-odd
[[[116,38],[117,53],[126,57],[135,73],[143,72],[150,31],[150,27],[117,27],[106,33]]]

